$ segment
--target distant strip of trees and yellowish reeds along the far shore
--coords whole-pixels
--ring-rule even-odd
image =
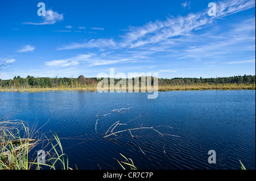
[[[133,78],[134,79],[134,78]],[[151,77],[153,85],[153,78]],[[77,78],[49,78],[49,77],[33,77],[28,75],[26,78],[15,76],[13,79],[2,80],[0,79],[0,88],[6,89],[31,89],[31,88],[54,88],[54,87],[95,87],[101,79],[86,78],[84,75],[80,75]],[[119,79],[115,79],[115,83]],[[141,77],[139,77],[139,83],[141,83]],[[216,77],[216,78],[158,78],[159,86],[228,86],[228,85],[251,85],[255,86],[255,75],[238,75],[233,77]]]

